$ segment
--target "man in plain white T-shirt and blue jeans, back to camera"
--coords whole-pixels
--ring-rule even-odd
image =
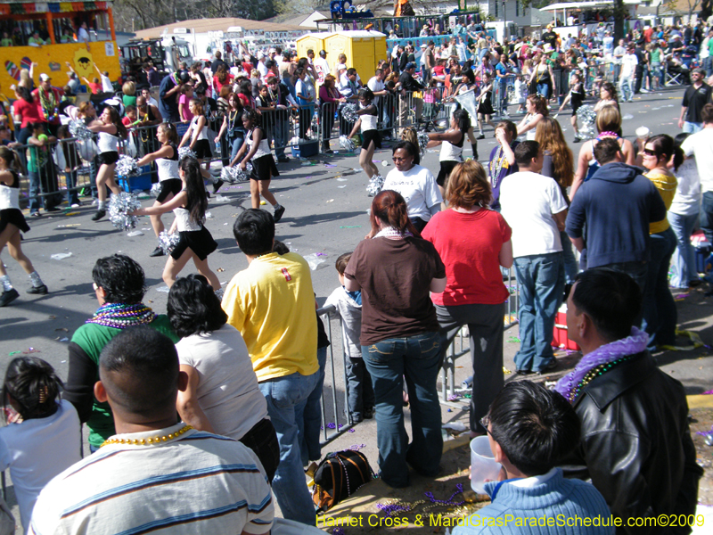
[[[556,366],[551,342],[564,294],[560,232],[567,203],[553,178],[538,174],[543,160],[536,141],[523,141],[515,148],[520,171],[500,186],[501,213],[512,227],[512,255],[520,286],[518,374],[540,374]]]

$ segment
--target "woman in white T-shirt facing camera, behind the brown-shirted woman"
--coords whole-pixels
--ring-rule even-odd
[[[383,189],[400,193],[406,199],[408,218],[421,232],[433,214],[440,211],[443,197],[430,170],[415,162],[417,155],[418,149],[413,143],[398,142],[393,148],[396,169],[389,171]],[[373,228],[372,233],[375,232]]]

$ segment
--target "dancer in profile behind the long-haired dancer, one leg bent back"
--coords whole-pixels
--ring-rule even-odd
[[[142,166],[152,161],[156,162],[156,167],[159,170],[161,190],[153,206],[160,206],[180,193],[181,189],[183,189],[183,184],[178,175],[178,149],[176,148],[178,134],[176,133],[176,127],[171,123],[161,123],[159,127],[156,128],[156,138],[159,140],[161,148],[156,152],[146,154],[141,160],[136,162],[136,165]],[[163,221],[161,221],[161,214],[152,215],[150,218],[153,233],[158,238],[165,228]],[[157,246],[149,256],[158,257],[163,255],[163,249]]]

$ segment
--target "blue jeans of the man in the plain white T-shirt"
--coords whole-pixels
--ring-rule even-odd
[[[554,317],[564,294],[562,253],[519,257],[514,265],[520,288],[520,350],[515,368],[539,372],[554,358]]]

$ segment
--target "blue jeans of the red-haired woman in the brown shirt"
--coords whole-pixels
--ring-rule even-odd
[[[438,401],[440,335],[422,333],[389,338],[362,346],[366,369],[372,375],[376,399],[376,442],[381,479],[395,488],[406,487],[408,463],[425,476],[438,473],[443,452]],[[411,403],[411,434],[404,426],[403,383]]]

